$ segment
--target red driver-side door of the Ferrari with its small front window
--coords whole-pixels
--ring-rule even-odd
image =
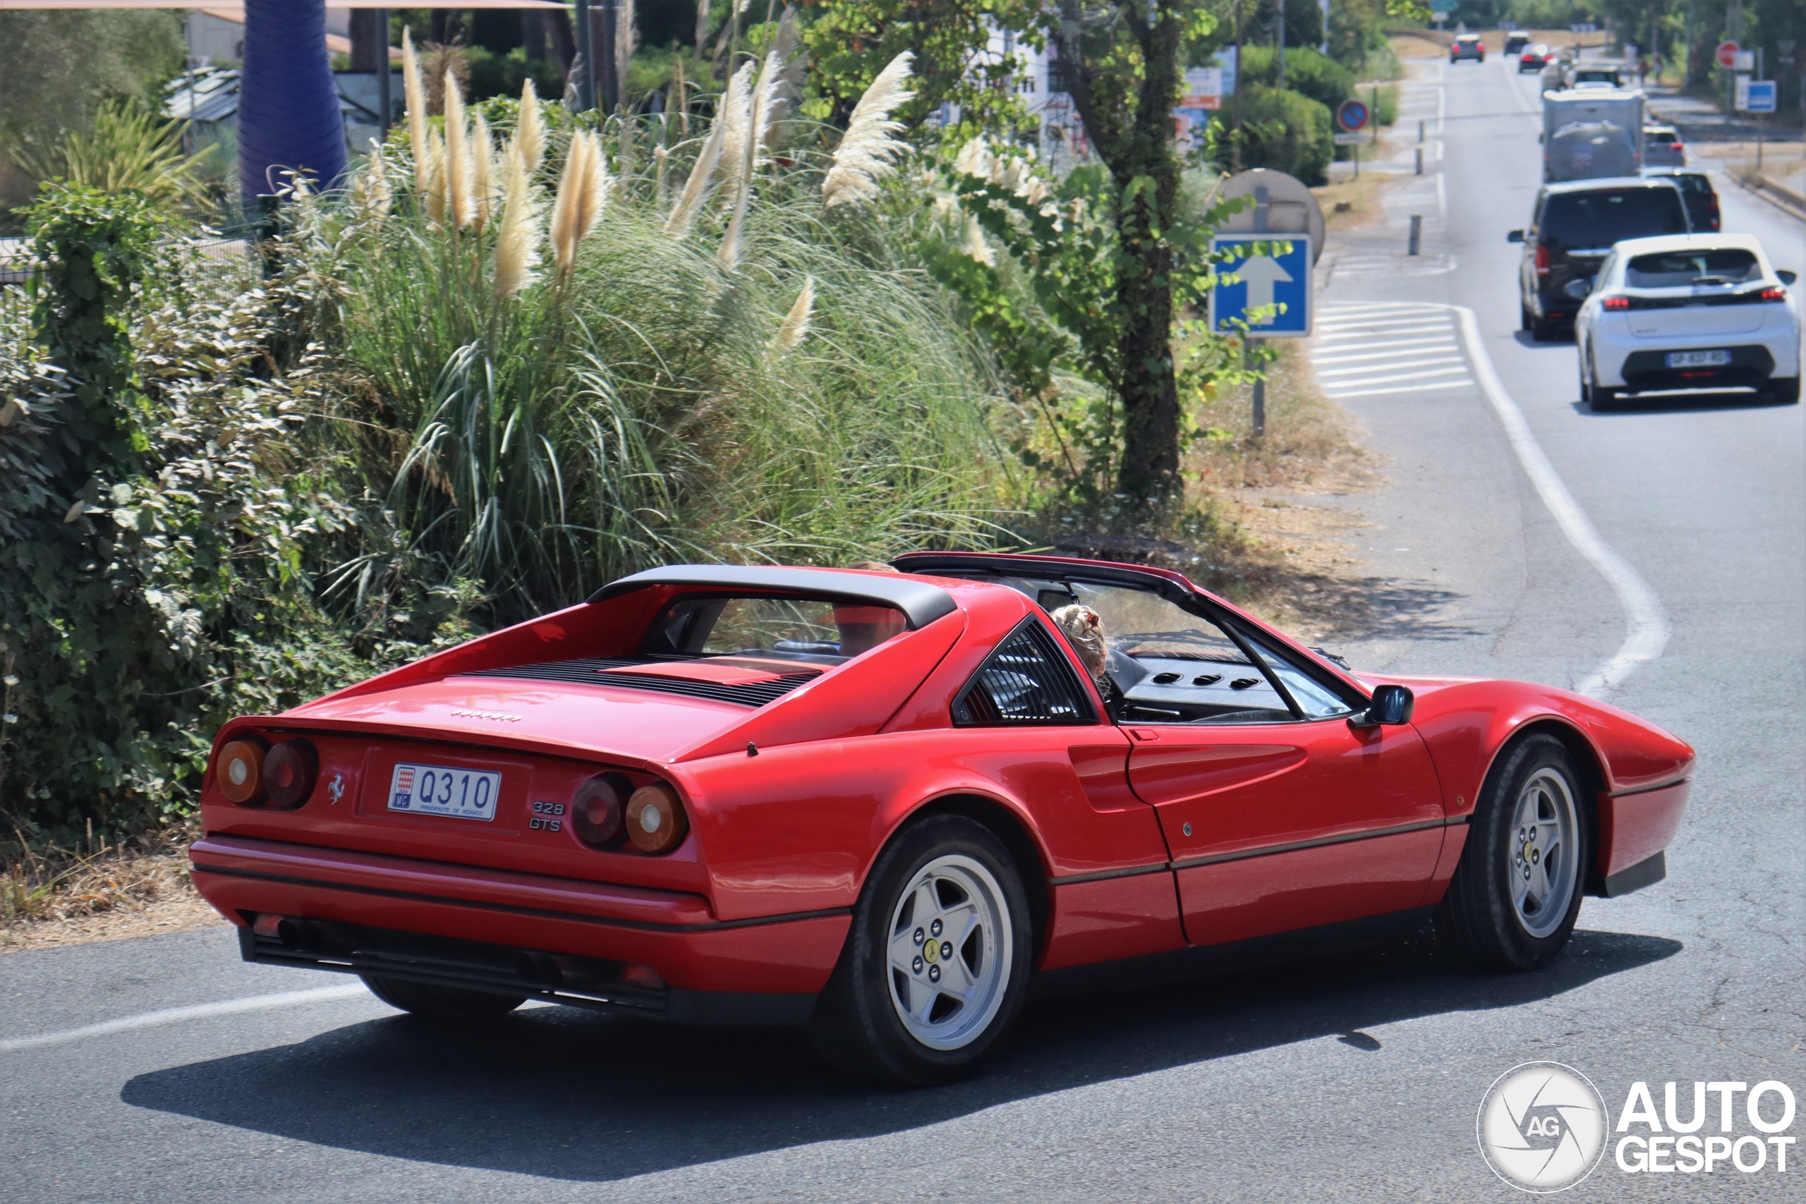
[[[1362,700],[1275,641],[1235,632],[1239,670],[1280,702],[1192,722],[1131,711],[1131,789],[1159,814],[1190,944],[1416,908],[1443,803],[1409,724],[1356,726]],[[1246,681],[1246,679],[1239,679]],[[1244,688],[1250,695],[1255,686]],[[1286,713],[1289,711],[1289,713]]]

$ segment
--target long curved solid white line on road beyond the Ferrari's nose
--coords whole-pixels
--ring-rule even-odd
[[[1474,359],[1474,375],[1479,377],[1481,392],[1486,394],[1486,401],[1497,412],[1499,422],[1504,424],[1506,439],[1512,440],[1512,451],[1517,453],[1517,462],[1524,466],[1524,475],[1537,487],[1537,495],[1550,509],[1550,514],[1555,516],[1555,523],[1568,536],[1573,549],[1598,569],[1611,592],[1618,596],[1618,605],[1624,607],[1627,630],[1618,652],[1575,686],[1577,693],[1597,699],[1622,688],[1624,679],[1636,671],[1640,664],[1649,664],[1662,655],[1662,650],[1669,646],[1669,616],[1662,608],[1662,599],[1649,588],[1649,581],[1643,581],[1643,576],[1631,567],[1631,561],[1606,543],[1593,520],[1586,516],[1580,504],[1568,493],[1568,486],[1562,484],[1555,466],[1550,464],[1550,457],[1542,453],[1542,444],[1537,442],[1535,433],[1530,430],[1530,422],[1524,421],[1524,412],[1512,401],[1504,381],[1494,370],[1486,345],[1481,343],[1479,320],[1474,316],[1474,310],[1466,305],[1450,305],[1448,309],[1461,320],[1461,334],[1466,338],[1468,356]]]

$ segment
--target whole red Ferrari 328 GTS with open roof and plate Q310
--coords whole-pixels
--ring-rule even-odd
[[[807,1025],[932,1083],[1031,993],[1432,915],[1530,969],[1584,894],[1665,874],[1694,753],[1624,711],[1354,677],[1158,569],[654,569],[235,718],[193,881],[247,960],[424,1016]],[[1096,677],[1069,605],[1102,619]]]

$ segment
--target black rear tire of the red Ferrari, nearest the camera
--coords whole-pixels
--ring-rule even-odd
[[[955,1047],[936,1049],[912,1033],[899,1014],[894,993],[907,993],[912,984],[907,969],[892,969],[890,946],[892,939],[907,939],[905,933],[914,926],[914,912],[905,910],[914,904],[907,904],[905,899],[916,895],[914,888],[923,875],[939,868],[970,874],[970,865],[982,866],[991,879],[990,884],[995,886],[995,894],[973,906],[1001,908],[1001,913],[993,915],[993,944],[984,946],[991,949],[984,957],[991,957],[988,966],[995,968],[995,977],[991,989],[982,996],[986,1000],[982,1009],[964,1020],[977,1027],[950,1034],[948,1040],[957,1040]],[[957,884],[930,884],[926,890],[955,892],[957,906]],[[946,894],[936,897],[946,906]],[[894,919],[905,921],[896,931],[892,931]],[[997,955],[1004,933],[1010,939],[1008,959]],[[934,944],[932,939],[928,944]],[[961,973],[966,973],[968,948],[970,942],[957,951]],[[939,959],[950,964],[945,953]],[[1035,935],[1028,895],[1002,841],[975,820],[930,816],[903,829],[872,865],[865,890],[852,908],[852,926],[840,962],[809,1022],[809,1040],[829,1065],[851,1078],[894,1087],[950,1083],[970,1074],[1015,1023],[1028,995],[1033,959]],[[923,968],[919,973],[928,971],[936,975],[936,982],[941,980],[937,968]],[[934,995],[925,978],[916,978],[914,989]],[[948,998],[952,996],[936,996],[932,1009],[937,1011],[941,1000]],[[961,1023],[959,1005],[937,1023]]]

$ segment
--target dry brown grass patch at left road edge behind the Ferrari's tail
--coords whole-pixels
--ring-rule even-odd
[[[25,848],[0,866],[0,953],[224,922],[188,881],[188,829],[90,850]]]

